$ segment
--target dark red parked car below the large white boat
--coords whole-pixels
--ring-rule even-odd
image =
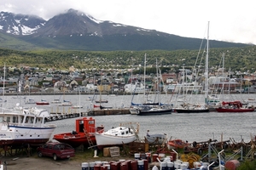
[[[69,144],[49,142],[38,147],[38,157],[42,156],[51,156],[54,160],[70,158],[75,156],[75,150]]]

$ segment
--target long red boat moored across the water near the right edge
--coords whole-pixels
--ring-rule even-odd
[[[222,102],[222,106],[216,108],[218,112],[251,112],[254,111],[253,106],[244,107],[241,101]]]

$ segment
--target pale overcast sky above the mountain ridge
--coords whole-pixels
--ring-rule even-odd
[[[1,0],[0,11],[49,20],[69,8],[96,20],[153,29],[182,37],[256,44],[253,0]]]

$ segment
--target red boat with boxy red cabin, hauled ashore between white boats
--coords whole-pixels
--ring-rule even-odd
[[[75,131],[71,133],[55,134],[53,139],[61,143],[70,144],[74,148],[81,144],[90,145],[88,138],[90,138],[92,144],[96,144],[94,133],[101,133],[103,129],[103,126],[96,127],[94,118],[83,117],[75,120]]]

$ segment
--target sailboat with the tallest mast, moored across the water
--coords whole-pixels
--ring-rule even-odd
[[[209,112],[208,108],[208,58],[209,58],[209,23],[207,26],[207,56],[206,56],[206,68],[205,68],[205,102],[206,104],[193,104],[190,105],[189,103],[183,103],[183,107],[181,108],[175,108],[174,110],[177,113],[201,113],[201,112]],[[183,75],[184,76],[184,75]]]

